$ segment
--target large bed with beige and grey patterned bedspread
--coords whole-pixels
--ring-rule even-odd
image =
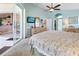
[[[30,38],[31,49],[45,56],[79,55],[79,33],[46,31]]]

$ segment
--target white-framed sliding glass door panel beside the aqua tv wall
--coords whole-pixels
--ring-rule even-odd
[[[13,12],[14,44],[22,39],[25,39],[25,9],[21,4],[16,4]]]

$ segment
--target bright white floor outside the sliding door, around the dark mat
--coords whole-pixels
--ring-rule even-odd
[[[8,34],[4,34],[4,35],[0,35],[0,49],[3,48],[4,46],[12,46],[13,42],[10,41],[8,42],[7,39],[10,39],[13,37],[12,33],[8,33]]]

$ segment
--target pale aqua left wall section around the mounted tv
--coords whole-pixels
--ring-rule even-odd
[[[36,5],[32,4],[32,3],[26,3],[26,4],[22,4],[25,7],[25,11],[26,11],[26,19],[28,16],[32,16],[32,17],[40,17],[40,19],[46,19],[48,16],[48,13],[46,11],[44,11],[42,8],[37,7]],[[28,24],[27,26],[31,26],[33,24]]]

